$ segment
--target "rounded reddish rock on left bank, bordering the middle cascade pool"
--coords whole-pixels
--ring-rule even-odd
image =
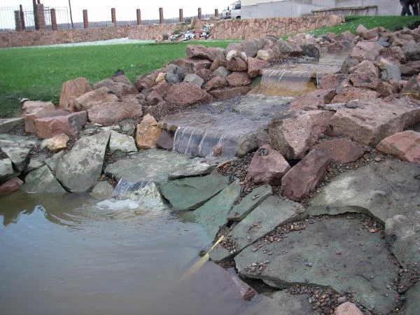
[[[202,90],[201,87],[194,83],[177,83],[173,84],[167,90],[165,101],[185,107],[193,104],[207,104],[213,100],[211,94]]]

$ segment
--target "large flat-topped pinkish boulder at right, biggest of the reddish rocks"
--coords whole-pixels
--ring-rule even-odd
[[[420,105],[406,99],[395,99],[393,103],[379,99],[356,100],[337,109],[328,123],[328,133],[376,146],[382,139],[419,121]]]

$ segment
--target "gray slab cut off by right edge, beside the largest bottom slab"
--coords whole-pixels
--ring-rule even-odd
[[[386,242],[403,267],[420,264],[420,211],[385,221]]]

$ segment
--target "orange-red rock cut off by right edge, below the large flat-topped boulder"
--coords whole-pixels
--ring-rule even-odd
[[[376,148],[402,161],[420,164],[420,132],[406,130],[393,134],[379,142]]]

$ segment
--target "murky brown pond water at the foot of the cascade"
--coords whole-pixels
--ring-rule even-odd
[[[1,221],[0,314],[233,315],[255,307],[211,262],[181,281],[209,239],[169,211],[15,194],[0,199]]]

